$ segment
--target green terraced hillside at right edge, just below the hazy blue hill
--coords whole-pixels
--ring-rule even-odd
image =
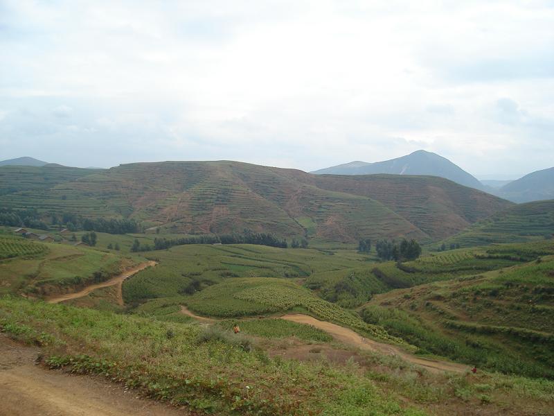
[[[446,239],[445,245],[472,247],[490,243],[552,239],[553,236],[554,200],[547,200],[514,205],[497,212]]]

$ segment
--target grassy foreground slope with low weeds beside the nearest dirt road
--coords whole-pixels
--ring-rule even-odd
[[[0,328],[42,345],[50,367],[100,374],[215,415],[533,415],[554,383],[501,374],[429,374],[395,358],[335,365],[271,358],[226,331],[91,309],[0,299]]]

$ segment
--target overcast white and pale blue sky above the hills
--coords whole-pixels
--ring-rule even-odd
[[[0,159],[554,166],[553,1],[0,0]]]

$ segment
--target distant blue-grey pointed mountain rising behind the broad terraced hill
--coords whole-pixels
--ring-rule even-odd
[[[436,153],[418,150],[410,155],[397,157],[384,162],[350,162],[339,166],[314,171],[316,175],[368,175],[389,173],[393,175],[428,175],[444,177],[465,187],[483,189],[483,185],[475,177],[456,164]]]

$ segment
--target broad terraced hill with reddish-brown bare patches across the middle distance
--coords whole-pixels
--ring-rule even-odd
[[[312,175],[240,162],[159,162],[102,171],[3,166],[0,205],[134,218],[193,234],[273,232],[323,241],[437,240],[510,206],[438,177]]]

